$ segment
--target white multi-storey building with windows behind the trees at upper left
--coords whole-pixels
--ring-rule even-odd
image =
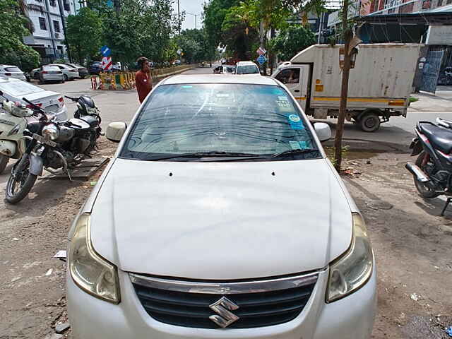
[[[26,0],[26,2],[34,32],[23,37],[23,42],[40,54],[42,64],[56,59],[67,59],[63,20],[75,14],[76,8],[80,8],[80,5],[76,0]]]

